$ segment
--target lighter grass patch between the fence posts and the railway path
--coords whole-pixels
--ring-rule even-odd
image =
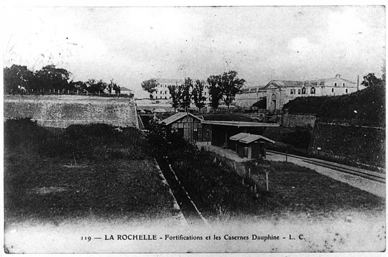
[[[266,201],[276,212],[328,216],[335,212],[383,211],[384,199],[293,163],[272,162],[271,194]],[[265,173],[253,171],[265,188]]]

